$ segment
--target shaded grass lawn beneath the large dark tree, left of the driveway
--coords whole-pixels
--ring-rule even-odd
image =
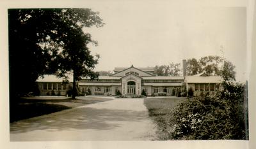
[[[19,99],[16,103],[10,104],[10,122],[23,120],[31,117],[38,117],[61,110],[84,106],[85,104],[93,104],[112,99],[86,97],[83,99]]]

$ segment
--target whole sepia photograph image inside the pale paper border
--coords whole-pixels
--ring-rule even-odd
[[[8,8],[10,141],[249,140],[245,7]]]

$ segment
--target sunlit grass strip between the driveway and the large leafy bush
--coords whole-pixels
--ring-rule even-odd
[[[158,127],[158,138],[168,138],[164,131],[166,131],[166,122],[170,122],[170,112],[177,106],[186,100],[185,97],[166,97],[166,98],[154,98],[148,97],[144,100],[144,104],[148,109],[150,118],[154,120]],[[168,115],[169,114],[169,115]]]

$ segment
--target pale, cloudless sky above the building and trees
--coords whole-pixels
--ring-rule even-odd
[[[99,42],[89,46],[100,55],[95,71],[219,55],[236,66],[237,81],[246,80],[245,7],[150,2],[88,4],[105,23],[86,29]]]

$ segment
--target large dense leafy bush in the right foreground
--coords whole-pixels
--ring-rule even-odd
[[[243,85],[223,83],[223,87],[216,94],[179,104],[162,127],[169,139],[248,139]]]

